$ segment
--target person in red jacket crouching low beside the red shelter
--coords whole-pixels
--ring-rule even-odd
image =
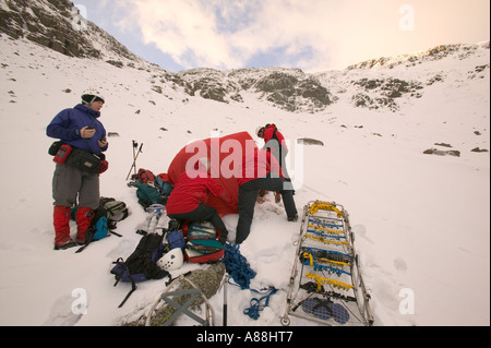
[[[202,158],[194,166],[197,170],[195,178],[190,177],[185,171],[180,175],[167,200],[166,211],[167,216],[179,221],[211,221],[220,231],[219,241],[224,243],[227,240],[228,230],[218,212],[206,205],[206,200],[212,193],[230,205],[237,205],[237,202],[228,191],[209,177],[208,167],[207,158]]]

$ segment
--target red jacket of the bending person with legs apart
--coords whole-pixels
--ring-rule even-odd
[[[239,185],[258,178],[264,178],[268,173],[278,178],[285,178],[279,163],[270,152],[254,148],[253,154],[247,154],[242,158],[242,177],[237,178]]]

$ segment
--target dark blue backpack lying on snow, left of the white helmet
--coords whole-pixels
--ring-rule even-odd
[[[157,266],[157,261],[164,255],[164,236],[159,233],[146,233],[142,237],[136,249],[124,261],[119,257],[113,262],[115,266],[110,271],[115,275],[116,284],[119,281],[131,283],[131,290],[121,302],[122,307],[128,298],[136,290],[136,283],[148,279],[163,279],[166,276],[171,279],[170,274]]]

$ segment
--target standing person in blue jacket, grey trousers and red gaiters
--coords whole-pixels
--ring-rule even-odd
[[[106,130],[98,120],[104,97],[95,89],[82,94],[82,103],[60,111],[46,129],[50,137],[59,139],[74,148],[100,154],[108,148]],[[56,165],[52,178],[55,250],[85,243],[94,211],[99,206],[99,175],[91,173],[68,163]],[[70,237],[70,215],[77,204],[76,239]]]

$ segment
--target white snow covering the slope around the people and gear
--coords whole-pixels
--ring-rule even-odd
[[[144,144],[137,168],[159,173],[188,142],[209,137],[214,129],[253,134],[266,122],[291,140],[299,212],[313,200],[335,201],[349,212],[375,325],[490,325],[490,161],[489,153],[470,152],[490,149],[489,69],[483,79],[468,73],[489,64],[489,49],[412,68],[326,73],[324,83],[334,93],[346,93],[318,113],[282,111],[248,93],[241,93],[243,104],[229,105],[190,97],[160,83],[157,67],[119,69],[4,36],[0,64],[0,325],[119,325],[137,317],[165,284],[141,284],[118,308],[130,288],[113,287],[111,263],[131,254],[140,240],[135,231],[147,219],[124,180],[131,141]],[[423,96],[405,100],[398,112],[349,103],[349,81],[361,76],[426,82],[435,74],[444,82],[424,86]],[[154,85],[163,94],[153,92]],[[88,87],[104,91],[101,121],[119,133],[109,137],[110,167],[100,178],[101,194],[124,201],[131,215],[118,224],[122,238],[111,236],[75,254],[73,249],[52,250],[55,164],[47,149],[53,140],[46,136],[46,125],[61,109],[76,105]],[[324,146],[300,147],[299,137]],[[460,151],[460,157],[422,154],[441,142]],[[300,221],[288,223],[283,207],[268,200],[256,205],[251,235],[240,250],[258,273],[251,287],[279,291],[253,321],[243,310],[258,295],[228,286],[229,325],[280,325]],[[224,220],[233,240],[238,216]],[[196,267],[204,266],[185,264],[176,275]],[[414,295],[414,312],[405,313],[400,304],[408,293]],[[86,313],[75,314],[74,304],[84,296]],[[211,299],[217,324],[223,299],[223,289]],[[291,325],[311,323],[291,317]]]

